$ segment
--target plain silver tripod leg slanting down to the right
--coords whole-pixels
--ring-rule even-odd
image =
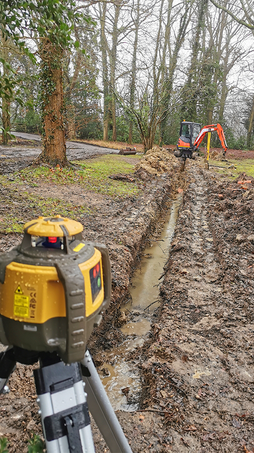
[[[89,410],[111,453],[132,453],[88,350],[81,361],[81,370]]]

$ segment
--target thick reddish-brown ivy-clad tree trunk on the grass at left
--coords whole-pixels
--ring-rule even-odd
[[[42,153],[38,163],[60,166],[68,163],[63,124],[62,49],[47,38],[40,46]]]

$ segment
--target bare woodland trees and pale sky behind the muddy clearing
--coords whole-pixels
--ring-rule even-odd
[[[12,129],[45,134],[50,114],[69,140],[146,150],[175,144],[185,119],[253,148],[254,1],[4,0],[0,16],[6,143]]]

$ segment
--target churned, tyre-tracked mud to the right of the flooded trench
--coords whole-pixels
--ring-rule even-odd
[[[221,205],[218,193],[226,183],[218,185],[217,176],[192,163],[186,172],[190,183],[166,266],[161,313],[142,365],[144,404],[165,414],[161,435],[168,442],[143,451],[248,451],[254,445],[254,326],[253,269],[246,264],[253,263],[253,247],[250,226],[239,243],[233,220],[245,201]],[[253,193],[250,198],[253,207]],[[238,211],[238,223],[244,223],[244,208]]]

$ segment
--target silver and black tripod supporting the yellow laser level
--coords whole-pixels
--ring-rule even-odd
[[[0,354],[0,393],[9,393],[16,362],[38,360],[34,378],[47,453],[95,452],[88,405],[111,453],[132,453],[88,350],[81,363],[65,365],[56,353],[9,347]]]

